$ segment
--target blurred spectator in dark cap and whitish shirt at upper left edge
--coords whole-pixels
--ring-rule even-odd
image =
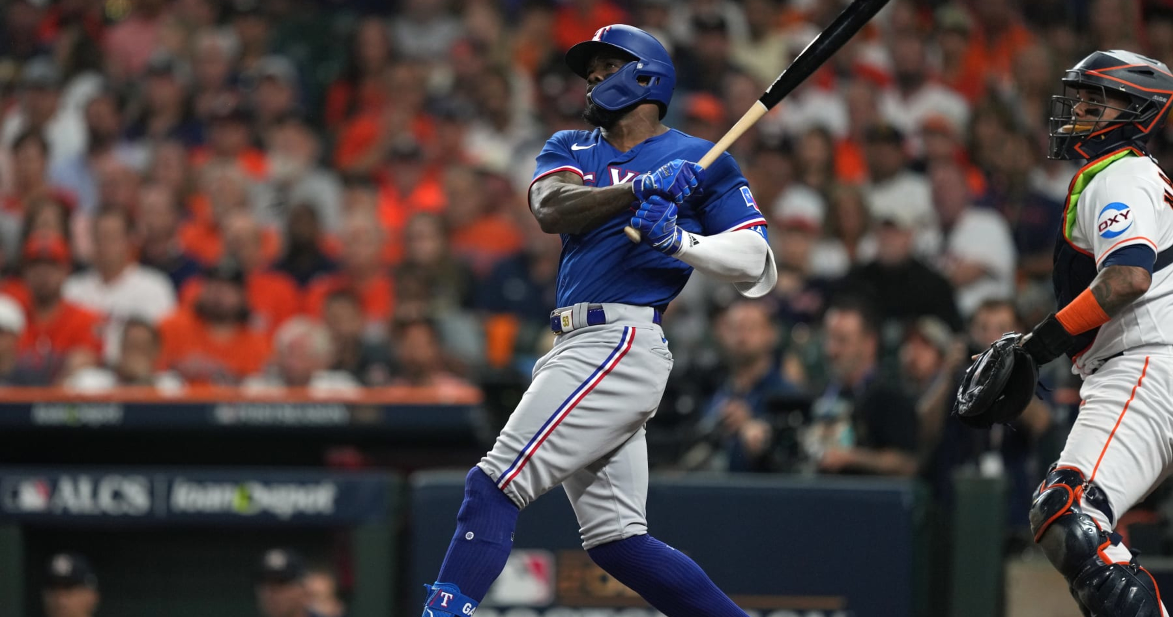
[[[86,151],[86,122],[81,110],[62,100],[61,69],[49,56],[25,62],[18,86],[19,104],[0,124],[0,147],[11,148],[25,133],[38,133],[48,143],[50,164],[57,164]]]

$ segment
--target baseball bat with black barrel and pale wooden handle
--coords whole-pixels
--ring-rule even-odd
[[[761,120],[761,116],[773,109],[782,97],[791,94],[799,83],[809,77],[840,47],[843,47],[843,43],[852,36],[855,36],[855,33],[860,32],[863,25],[874,18],[887,4],[888,0],[855,0],[848,5],[830,26],[827,26],[825,30],[820,32],[802,49],[798,57],[791,62],[791,66],[786,67],[786,70],[782,70],[782,74],[774,80],[774,83],[769,88],[766,88],[766,91],[753,103],[753,107],[741,116],[741,120],[738,120],[737,124],[733,124],[733,128],[726,131],[697,163],[706,169],[713,164],[713,161],[717,161],[717,157],[721,152],[727,150],[730,145],[733,145],[733,142],[738,137],[750,130],[750,127]],[[623,232],[628,235],[631,242],[639,242],[639,232],[635,228],[630,225],[625,226],[623,228]]]

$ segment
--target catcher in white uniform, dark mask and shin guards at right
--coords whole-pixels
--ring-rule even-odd
[[[1131,52],[1096,52],[1051,100],[1051,158],[1086,160],[1055,248],[1059,306],[1006,334],[962,380],[970,426],[1015,419],[1038,366],[1062,354],[1084,382],[1079,416],[1031,506],[1035,541],[1087,617],[1167,615],[1157,582],[1113,531],[1173,469],[1173,184],[1145,144],[1169,114],[1173,75]]]

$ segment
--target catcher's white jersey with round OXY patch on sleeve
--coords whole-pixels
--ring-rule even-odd
[[[1173,248],[1173,185],[1152,158],[1125,156],[1087,183],[1064,224],[1072,246],[1094,257],[1097,269],[1110,253],[1130,245],[1148,246],[1160,256]],[[1072,371],[1087,377],[1125,350],[1169,345],[1173,266],[1153,272],[1148,291],[1100,327],[1092,346],[1076,357]]]

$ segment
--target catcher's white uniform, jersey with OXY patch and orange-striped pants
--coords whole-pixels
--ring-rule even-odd
[[[1103,491],[1106,500],[1085,499],[1083,508],[1112,530],[1173,465],[1173,184],[1135,150],[1082,170],[1059,243],[1055,282],[1063,304],[1104,267],[1152,257],[1137,246],[1157,253],[1148,291],[1083,337],[1083,345],[1094,339],[1073,357],[1072,371],[1084,378],[1082,402],[1058,465],[1079,469]],[[1119,543],[1104,554],[1131,558]]]

